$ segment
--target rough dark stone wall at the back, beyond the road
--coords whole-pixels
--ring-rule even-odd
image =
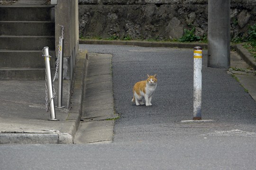
[[[256,0],[231,0],[231,38],[256,23]],[[207,35],[208,0],[79,0],[79,34],[94,38],[179,39]]]

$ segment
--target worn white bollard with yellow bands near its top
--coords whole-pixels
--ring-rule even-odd
[[[202,48],[194,47],[194,103],[193,120],[201,120]]]

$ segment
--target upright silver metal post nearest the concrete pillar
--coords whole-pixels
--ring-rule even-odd
[[[64,108],[62,106],[62,92],[63,92],[63,41],[64,39],[61,39],[60,43],[60,58],[59,58],[59,72],[58,72],[58,100],[57,100],[57,108]]]

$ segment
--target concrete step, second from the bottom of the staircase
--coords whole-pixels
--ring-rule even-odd
[[[51,55],[51,68],[55,67],[55,51]],[[0,50],[0,68],[46,68],[42,51]]]

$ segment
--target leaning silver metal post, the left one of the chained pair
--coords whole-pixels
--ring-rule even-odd
[[[45,54],[45,62],[46,62],[46,78],[47,78],[47,92],[48,99],[50,100],[50,112],[51,119],[48,120],[58,120],[55,115],[55,105],[54,105],[54,93],[53,93],[53,84],[52,84],[52,76],[51,76],[51,68],[50,68],[50,55],[49,48],[44,47]]]

